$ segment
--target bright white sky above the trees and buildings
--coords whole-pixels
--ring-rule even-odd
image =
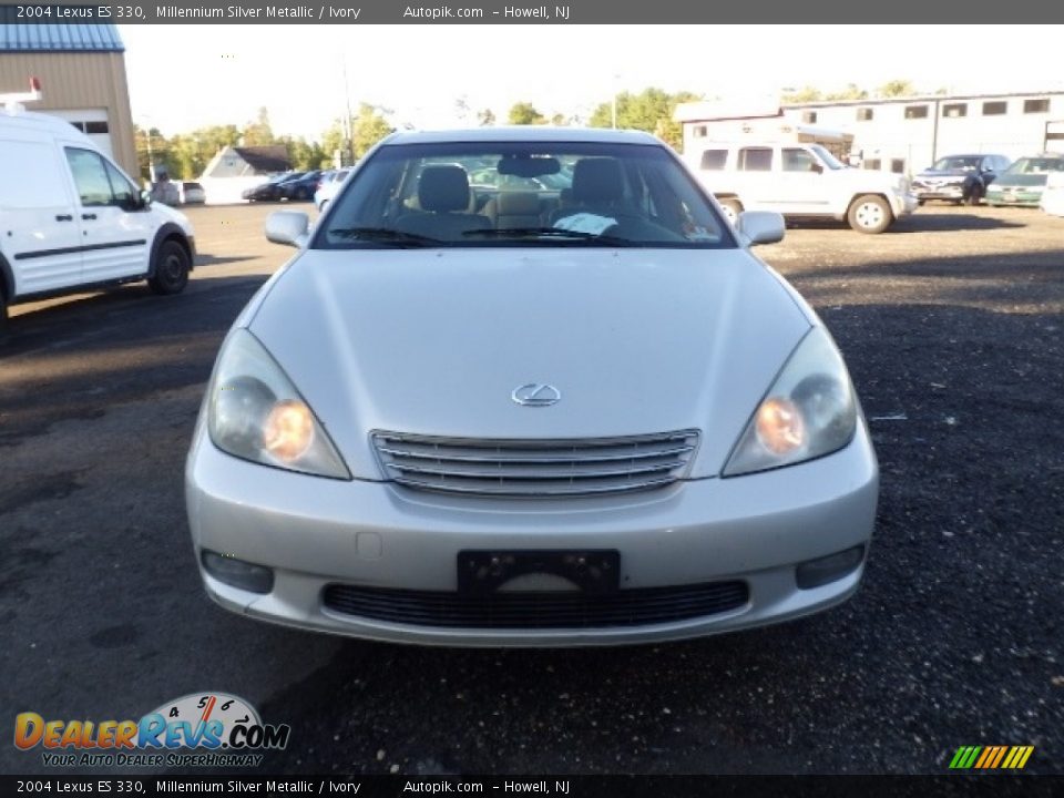
[[[1064,89],[1061,25],[959,28],[120,25],[133,119],[166,135],[243,126],[265,106],[275,133],[318,139],[345,98],[438,127],[463,124],[459,99],[470,125],[485,108],[504,121],[518,101],[586,119],[615,90],[649,85],[729,100],[894,79],[929,93]],[[999,38],[1020,48],[1012,59],[994,52]]]

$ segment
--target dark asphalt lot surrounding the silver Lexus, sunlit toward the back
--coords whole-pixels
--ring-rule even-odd
[[[293,727],[280,771],[1064,773],[1064,218],[928,205],[759,254],[846,355],[882,471],[831,612],[616,649],[461,651],[253,622],[200,584],[182,468],[218,344],[291,254],[270,206],[190,211],[188,289],[12,308],[0,345],[0,727],[223,690]],[[0,738],[2,739],[2,738]],[[42,769],[0,743],[0,771]],[[76,773],[78,769],[65,773]],[[95,773],[91,768],[84,771]]]

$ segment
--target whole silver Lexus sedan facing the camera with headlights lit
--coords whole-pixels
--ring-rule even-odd
[[[485,170],[525,180],[471,188]],[[222,606],[570,646],[858,589],[876,456],[831,336],[750,252],[782,219],[733,228],[658,140],[396,134],[313,229],[280,212],[266,234],[298,253],[226,337],[186,469]]]

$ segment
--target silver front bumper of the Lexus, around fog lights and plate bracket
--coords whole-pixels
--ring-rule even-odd
[[[863,424],[847,448],[807,463],[610,499],[458,500],[320,479],[233,458],[202,426],[185,477],[196,560],[222,606],[306,630],[448,646],[669,641],[826,610],[858,589],[863,555],[835,581],[806,590],[796,567],[855,546],[867,553],[879,481]],[[745,584],[744,600],[698,617],[559,628],[396,622],[338,611],[326,598],[337,586],[401,591],[400,602],[458,596],[463,550],[612,550],[620,552],[621,594],[732,582]],[[268,592],[219,581],[204,569],[204,552],[268,566]]]

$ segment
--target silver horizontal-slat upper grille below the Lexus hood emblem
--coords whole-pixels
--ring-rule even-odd
[[[698,432],[542,441],[376,432],[374,444],[386,478],[408,488],[493,497],[595,495],[681,479]]]

